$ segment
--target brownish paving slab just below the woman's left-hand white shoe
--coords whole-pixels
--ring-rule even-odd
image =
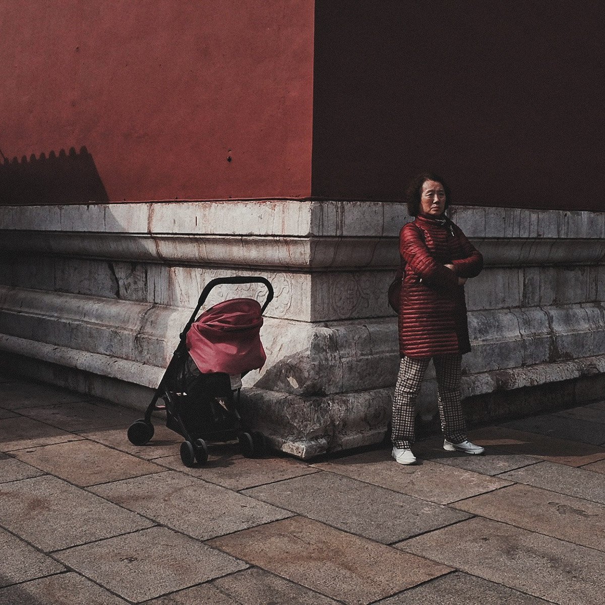
[[[456,502],[511,483],[426,460],[404,466],[393,460],[390,449],[345,456],[313,466],[437,504]]]

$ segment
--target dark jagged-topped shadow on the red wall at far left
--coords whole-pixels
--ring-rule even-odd
[[[83,204],[110,201],[93,156],[82,147],[0,165],[0,204]]]

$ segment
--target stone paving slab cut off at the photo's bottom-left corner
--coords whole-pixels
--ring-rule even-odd
[[[126,605],[90,580],[74,573],[51,575],[0,590],[0,605]]]

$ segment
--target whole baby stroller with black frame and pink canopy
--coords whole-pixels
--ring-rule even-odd
[[[195,319],[215,286],[252,283],[267,288],[262,307],[252,298],[232,298]],[[180,448],[185,466],[208,460],[206,439],[224,442],[237,437],[244,456],[266,453],[266,437],[244,427],[239,405],[241,378],[266,359],[258,332],[272,299],[273,288],[264,277],[217,278],[206,284],[145,417],[128,428],[132,444],[145,445],[153,437],[151,414],[165,410],[166,427],[185,438]],[[164,405],[158,405],[160,399]]]

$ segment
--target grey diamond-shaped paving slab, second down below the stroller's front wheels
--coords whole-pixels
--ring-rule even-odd
[[[174,471],[106,483],[90,491],[200,540],[292,516],[292,512]]]

